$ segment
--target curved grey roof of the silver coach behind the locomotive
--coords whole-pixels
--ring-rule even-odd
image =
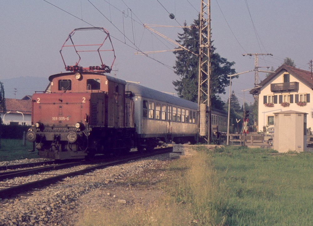
[[[160,91],[153,90],[145,86],[138,85],[136,83],[126,82],[125,91],[131,91],[135,96],[142,96],[142,97],[150,98],[153,100],[159,100],[162,102],[166,102],[166,103],[177,105],[177,106],[187,107],[187,108],[191,108],[194,110],[198,109],[197,103],[194,103],[189,100],[184,100],[182,98],[172,96],[166,93],[162,93]]]

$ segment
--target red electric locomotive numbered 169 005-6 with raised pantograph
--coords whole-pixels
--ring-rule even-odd
[[[97,30],[105,35],[101,44],[74,45],[73,35],[83,30]],[[71,44],[67,44],[68,40]],[[64,42],[74,47],[79,60],[67,66],[68,73],[49,77],[49,86],[32,98],[32,127],[26,139],[33,142],[40,157],[53,159],[82,158],[95,153],[129,151],[135,134],[134,103],[125,95],[126,82],[103,73],[110,73],[115,60],[110,49],[101,49],[109,33],[104,28],[74,29]],[[95,50],[79,49],[95,46]],[[101,66],[83,68],[79,65],[80,52],[99,53]],[[103,64],[100,53],[112,52],[111,66]]]

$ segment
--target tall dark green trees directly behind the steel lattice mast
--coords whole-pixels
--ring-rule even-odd
[[[200,20],[195,19],[190,28],[182,28],[183,32],[178,33],[177,43],[184,46],[193,53],[199,53],[199,24]],[[187,23],[184,23],[187,26]],[[235,62],[228,62],[226,58],[221,57],[215,52],[216,48],[211,41],[210,59],[211,59],[211,103],[212,107],[223,109],[224,102],[218,94],[225,94],[225,87],[229,85],[227,75],[236,73],[231,67]],[[177,48],[178,49],[178,48]],[[198,57],[186,50],[174,51],[176,55],[175,74],[180,79],[173,81],[173,85],[178,96],[193,102],[198,101]],[[205,65],[206,67],[207,65]],[[205,69],[206,70],[206,69]]]

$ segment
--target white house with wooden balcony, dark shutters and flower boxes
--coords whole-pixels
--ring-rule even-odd
[[[274,125],[274,112],[286,110],[308,113],[306,128],[313,129],[312,72],[283,64],[259,86],[250,90],[251,94],[259,95],[259,131],[263,131],[264,126]]]

